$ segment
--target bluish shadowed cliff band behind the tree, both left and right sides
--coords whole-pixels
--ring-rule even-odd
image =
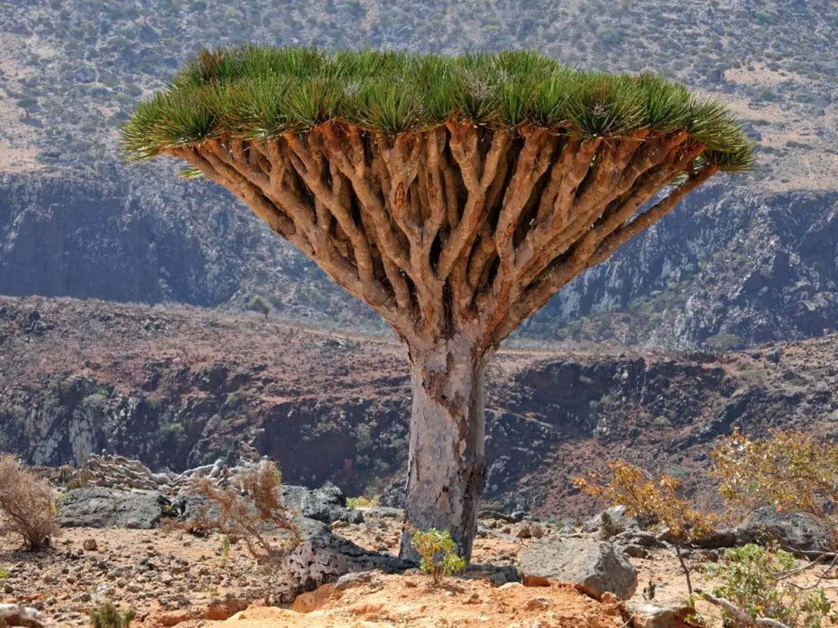
[[[228,193],[172,170],[0,175],[0,293],[199,306],[261,294],[286,317],[381,325]],[[706,188],[567,286],[522,335],[690,348],[720,334],[744,344],[835,330],[836,212],[833,192]]]

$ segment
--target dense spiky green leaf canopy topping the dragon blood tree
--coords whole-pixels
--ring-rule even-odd
[[[399,135],[453,119],[583,138],[686,131],[706,145],[703,163],[727,172],[753,164],[741,123],[719,100],[655,75],[571,69],[530,51],[202,50],[137,107],[123,140],[128,155],[142,159],[211,137],[269,140],[328,121]]]

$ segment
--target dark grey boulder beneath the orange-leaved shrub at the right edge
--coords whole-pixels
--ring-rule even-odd
[[[805,512],[778,512],[773,507],[753,511],[735,530],[737,544],[776,541],[802,552],[830,549],[830,534],[823,524]]]

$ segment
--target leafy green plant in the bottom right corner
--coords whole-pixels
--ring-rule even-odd
[[[794,556],[779,548],[753,543],[729,548],[718,564],[705,569],[708,576],[719,581],[712,595],[705,598],[722,606],[725,625],[730,628],[756,625],[737,617],[737,611],[752,620],[777,620],[794,628],[820,628],[823,620],[835,615],[824,589],[802,588],[789,581],[800,568]],[[734,608],[724,610],[725,603]]]

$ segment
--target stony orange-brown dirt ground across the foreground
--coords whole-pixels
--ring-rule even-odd
[[[473,563],[517,564],[518,554],[535,538],[523,532],[528,523],[481,522],[484,532],[474,543]],[[543,526],[546,534],[556,529]],[[366,517],[336,533],[379,551],[396,552],[401,521]],[[91,541],[95,541],[93,548]],[[86,547],[85,549],[85,542]],[[687,559],[693,584],[710,587],[699,564],[711,559],[694,550]],[[685,605],[684,576],[668,550],[631,559],[639,586],[633,602],[642,604],[649,581],[654,604]],[[344,591],[334,585],[297,598],[291,609],[270,604],[269,576],[247,553],[244,543],[223,549],[222,538],[199,538],[182,531],[70,528],[55,539],[52,551],[19,551],[16,539],[0,539],[0,603],[34,606],[60,626],[89,625],[88,612],[106,600],[137,614],[134,626],[180,628],[204,626],[520,626],[520,628],[618,628],[625,615],[615,600],[598,602],[572,584],[549,586],[507,584],[495,587],[484,579],[446,579],[432,586],[420,574],[375,574],[368,582]],[[530,584],[545,584],[543,582]],[[827,593],[838,600],[835,587]],[[699,610],[721,626],[715,609]]]

